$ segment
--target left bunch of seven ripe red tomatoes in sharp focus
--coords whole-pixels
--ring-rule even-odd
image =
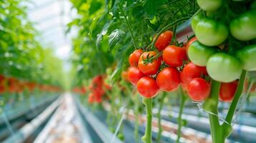
[[[157,38],[154,46],[159,52],[137,49],[129,56],[127,77],[143,97],[152,98],[159,90],[172,92],[179,87],[178,69],[187,60],[187,54],[184,47],[169,45],[172,34],[165,31]]]

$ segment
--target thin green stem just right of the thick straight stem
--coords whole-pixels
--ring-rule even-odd
[[[167,95],[167,92],[163,92],[162,97],[160,99],[158,112],[157,112],[158,129],[159,129],[158,133],[157,133],[157,142],[158,143],[161,142],[161,137],[162,137],[161,111],[162,111],[162,107],[164,105],[164,99],[165,99],[166,95]]]

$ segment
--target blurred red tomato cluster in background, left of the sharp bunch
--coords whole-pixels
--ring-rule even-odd
[[[88,96],[88,102],[90,104],[96,102],[101,103],[106,90],[110,90],[108,84],[104,82],[105,77],[103,75],[98,75],[92,79],[91,84],[89,85],[89,90],[91,91]]]

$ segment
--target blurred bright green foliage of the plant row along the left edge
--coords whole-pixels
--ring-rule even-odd
[[[61,85],[62,63],[36,39],[21,0],[0,1],[0,73],[44,84]]]

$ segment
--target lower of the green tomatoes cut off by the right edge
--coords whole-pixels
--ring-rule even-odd
[[[245,46],[237,51],[236,56],[242,62],[242,69],[256,71],[256,44]]]

